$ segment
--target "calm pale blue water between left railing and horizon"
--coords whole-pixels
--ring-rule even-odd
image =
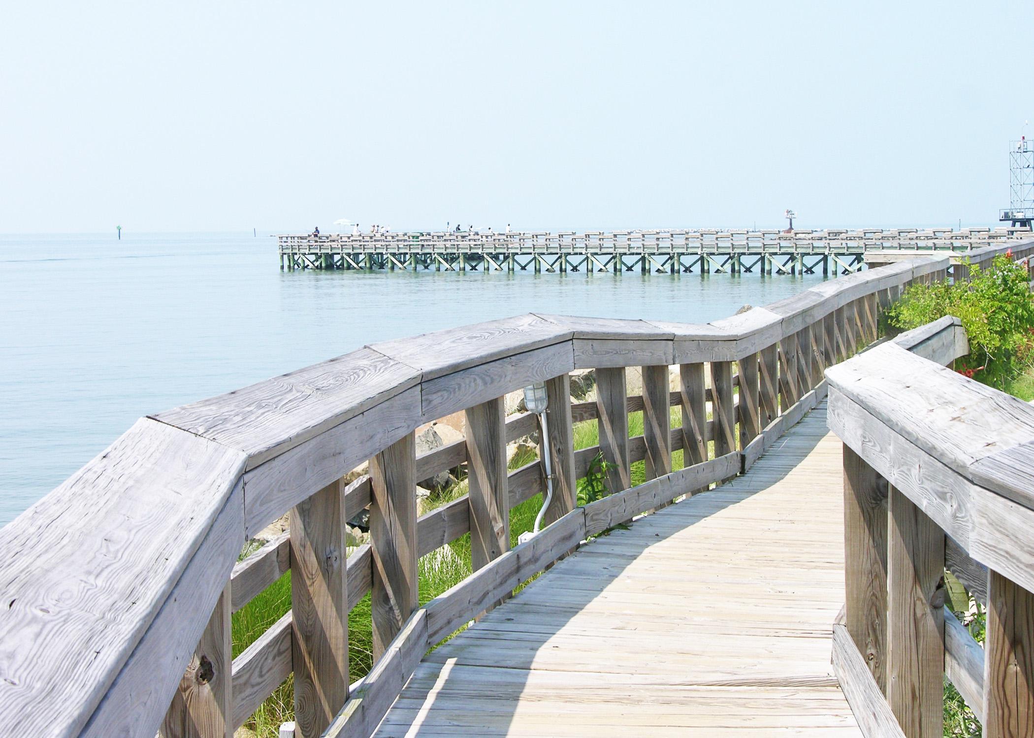
[[[267,235],[0,236],[0,525],[141,416],[536,311],[705,322],[821,277],[281,272]]]

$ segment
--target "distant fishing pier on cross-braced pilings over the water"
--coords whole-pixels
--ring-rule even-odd
[[[845,275],[1021,239],[1013,228],[630,230],[277,236],[280,269],[584,274]]]

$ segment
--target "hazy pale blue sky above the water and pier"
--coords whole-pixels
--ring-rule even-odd
[[[992,223],[1034,120],[1032,18],[8,3],[0,232]]]

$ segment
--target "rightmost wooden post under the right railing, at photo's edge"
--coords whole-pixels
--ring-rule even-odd
[[[1034,594],[992,570],[987,578],[983,730],[1034,735]]]

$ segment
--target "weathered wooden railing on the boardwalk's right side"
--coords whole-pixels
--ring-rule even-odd
[[[942,366],[968,352],[946,317],[826,370],[844,441],[833,665],[866,736],[940,738],[945,677],[984,736],[1034,735],[1034,407]],[[986,605],[983,647],[944,608],[945,571]]]

